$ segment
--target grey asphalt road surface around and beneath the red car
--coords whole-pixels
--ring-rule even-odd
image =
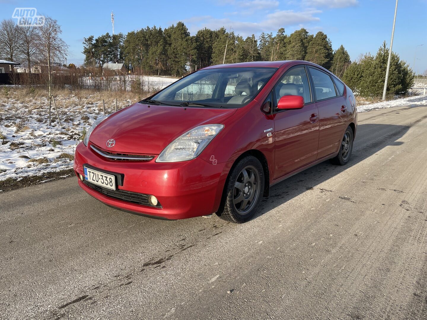
[[[347,166],[246,224],[104,206],[76,178],[0,194],[1,319],[426,319],[427,108],[359,114]]]

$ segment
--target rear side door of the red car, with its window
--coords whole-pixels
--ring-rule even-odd
[[[319,148],[317,159],[338,151],[346,129],[348,111],[346,99],[337,93],[328,73],[308,67],[313,83],[316,105],[319,110]]]

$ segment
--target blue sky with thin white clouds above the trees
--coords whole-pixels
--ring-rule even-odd
[[[287,34],[306,28],[310,33],[325,32],[333,49],[341,44],[351,59],[376,53],[386,40],[390,43],[394,0],[207,0],[207,1],[18,1],[0,0],[0,20],[12,16],[16,7],[35,7],[62,26],[62,37],[70,46],[67,62],[82,64],[83,38],[111,34],[111,11],[115,33],[146,26],[165,28],[183,21],[191,34],[207,26],[232,26],[246,36],[260,32],[275,33],[284,27]],[[416,71],[427,69],[427,0],[401,0],[398,5],[393,51],[412,67],[415,47]]]

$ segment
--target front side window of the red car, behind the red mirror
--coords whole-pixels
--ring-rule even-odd
[[[310,85],[304,67],[297,67],[285,72],[273,89],[275,106],[283,96],[301,96],[304,103],[311,102]]]

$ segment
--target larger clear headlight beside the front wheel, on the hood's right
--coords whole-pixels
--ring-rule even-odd
[[[211,142],[224,125],[200,125],[175,139],[159,154],[156,162],[191,160]]]

